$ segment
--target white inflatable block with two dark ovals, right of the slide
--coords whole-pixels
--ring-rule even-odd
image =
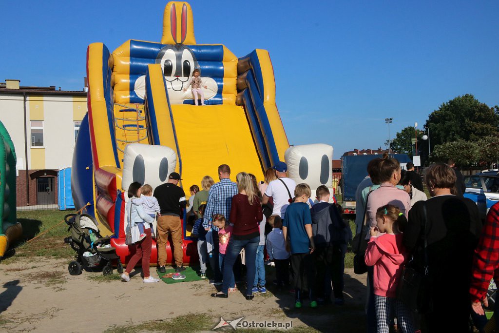
[[[333,147],[321,143],[289,147],[284,158],[289,178],[308,184],[312,194],[320,185],[332,187]]]

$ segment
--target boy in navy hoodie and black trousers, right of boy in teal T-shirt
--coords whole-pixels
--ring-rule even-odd
[[[347,227],[335,205],[329,203],[329,189],[321,185],[316,190],[319,201],[312,206],[312,234],[315,243],[315,268],[317,300],[329,299],[325,290],[329,278],[333,283],[334,303],[343,305],[343,273],[345,270],[344,252]]]

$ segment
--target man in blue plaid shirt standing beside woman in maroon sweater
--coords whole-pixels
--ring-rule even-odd
[[[215,271],[215,280],[210,281],[213,285],[222,284],[222,272],[219,266],[219,242],[218,228],[212,225],[215,214],[223,214],[229,221],[231,215],[232,197],[238,194],[238,185],[231,181],[231,168],[227,164],[222,164],[218,169],[220,182],[214,184],[208,192],[208,201],[203,219],[203,227],[206,230],[212,228],[213,231],[213,252],[210,257],[210,266]]]

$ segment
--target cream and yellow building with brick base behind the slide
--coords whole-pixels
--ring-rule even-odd
[[[0,120],[17,156],[17,206],[54,205],[57,170],[71,166],[87,93],[19,82],[0,82]]]

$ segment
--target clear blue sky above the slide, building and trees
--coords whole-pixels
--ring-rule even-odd
[[[0,1],[0,80],[81,90],[85,52],[159,41],[167,1]],[[191,1],[198,43],[270,52],[291,144],[377,148],[439,105],[499,104],[499,1]],[[119,5],[119,7],[115,7]]]

